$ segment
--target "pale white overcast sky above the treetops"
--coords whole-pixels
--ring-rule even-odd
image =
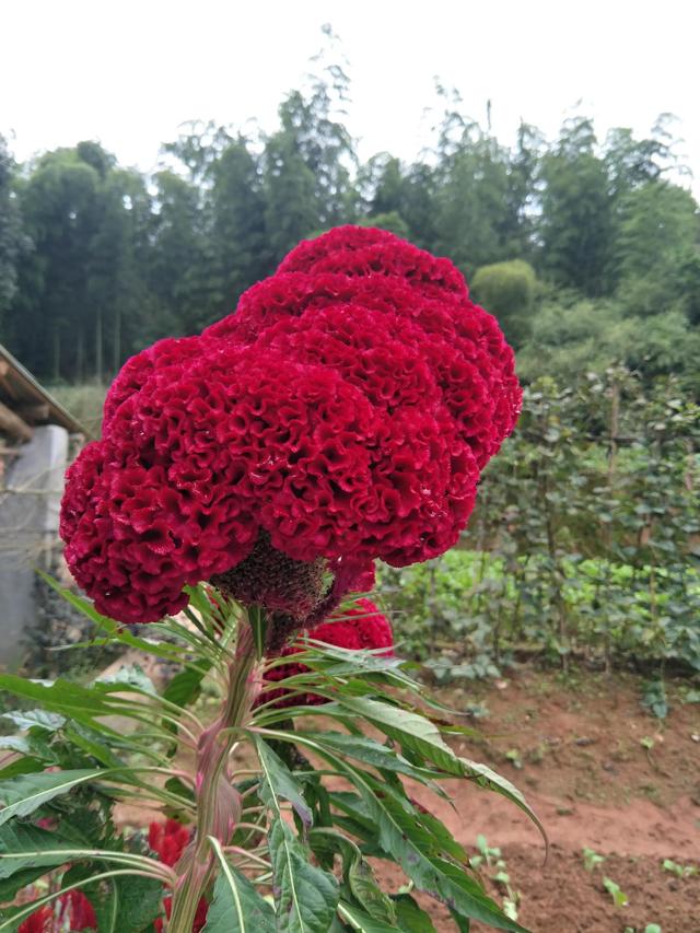
[[[148,171],[179,124],[276,126],[330,23],[349,60],[360,154],[415,158],[434,78],[505,142],[518,119],[557,132],[581,101],[600,136],[679,117],[700,191],[695,0],[16,0],[0,2],[0,133],[19,160],[98,139]]]

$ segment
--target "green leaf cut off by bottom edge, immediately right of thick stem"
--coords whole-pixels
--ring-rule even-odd
[[[250,882],[230,865],[219,840],[209,837],[219,861],[203,933],[275,933],[275,911]]]

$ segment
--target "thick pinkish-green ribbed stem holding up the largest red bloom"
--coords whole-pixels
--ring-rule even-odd
[[[231,785],[229,756],[237,738],[236,726],[247,719],[257,695],[259,668],[253,629],[243,622],[235,655],[228,667],[221,712],[202,732],[197,747],[197,821],[192,840],[176,866],[178,878],[168,933],[191,933],[197,906],[214,872],[215,856],[208,837],[213,836],[226,847],[241,819],[241,795]]]

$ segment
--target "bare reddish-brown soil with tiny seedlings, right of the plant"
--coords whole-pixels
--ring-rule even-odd
[[[445,699],[458,709],[475,697]],[[676,695],[660,724],[631,678],[562,681],[527,669],[481,687],[477,699],[489,714],[478,722],[480,739],[459,743],[459,753],[527,795],[550,839],[547,862],[534,826],[494,794],[457,784],[454,810],[430,805],[463,843],[474,847],[481,833],[501,848],[518,921],[534,933],[644,933],[653,923],[663,933],[700,933],[700,705]],[[586,870],[584,848],[604,861]],[[676,872],[663,868],[667,859]],[[482,871],[501,899],[504,886],[491,880],[498,867]],[[604,878],[626,906],[614,903]],[[431,912],[440,933],[455,929],[446,913]]]

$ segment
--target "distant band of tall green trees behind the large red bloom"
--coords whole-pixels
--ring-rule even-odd
[[[669,180],[669,117],[603,141],[587,117],[553,141],[523,123],[506,147],[444,95],[430,152],[361,163],[347,90],[326,69],[271,135],[192,124],[149,176],[92,141],[18,165],[0,139],[0,341],[42,377],[106,378],[229,313],[300,238],[354,222],[450,256],[526,380],[620,362],[700,388],[700,219]]]

